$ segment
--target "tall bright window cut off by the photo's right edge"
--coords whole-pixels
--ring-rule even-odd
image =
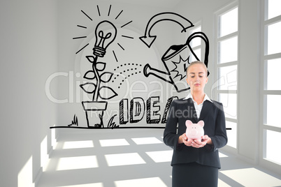
[[[278,149],[281,139],[280,109],[281,104],[281,1],[264,0],[264,24],[261,27],[261,36],[264,38],[261,57],[261,68],[264,69],[264,87],[261,89],[261,130],[262,130],[262,155],[261,158],[270,163],[281,165],[281,149]]]

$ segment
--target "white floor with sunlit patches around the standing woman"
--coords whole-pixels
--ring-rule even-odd
[[[57,129],[38,187],[171,186],[172,150],[163,129]],[[219,186],[281,186],[269,175],[237,158],[220,154]]]

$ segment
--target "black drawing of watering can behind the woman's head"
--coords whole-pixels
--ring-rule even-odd
[[[193,54],[196,60],[200,61],[196,56],[192,47],[190,46],[194,38],[201,38],[205,42],[205,55],[203,63],[208,67],[208,55],[209,55],[209,40],[205,33],[195,32],[187,38],[187,42],[183,45],[172,45],[164,53],[161,61],[164,63],[166,71],[152,68],[148,63],[143,68],[143,74],[145,77],[154,75],[161,80],[164,80],[170,84],[173,84],[177,92],[182,92],[190,89],[186,82],[186,70],[189,66],[189,54]],[[209,72],[208,72],[209,75]]]

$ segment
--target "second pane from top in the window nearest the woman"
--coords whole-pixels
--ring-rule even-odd
[[[219,63],[237,61],[238,56],[237,36],[219,42]]]

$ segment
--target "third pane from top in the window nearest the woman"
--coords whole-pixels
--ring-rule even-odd
[[[219,89],[237,89],[237,65],[219,68]]]

